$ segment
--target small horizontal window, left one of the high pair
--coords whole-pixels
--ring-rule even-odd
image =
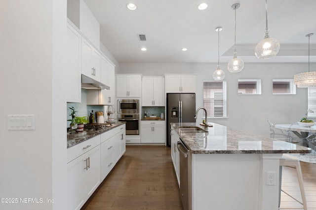
[[[261,79],[238,79],[238,94],[261,94]]]

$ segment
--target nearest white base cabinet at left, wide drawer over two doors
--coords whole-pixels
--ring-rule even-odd
[[[68,209],[77,210],[101,183],[100,136],[69,148],[67,160]]]

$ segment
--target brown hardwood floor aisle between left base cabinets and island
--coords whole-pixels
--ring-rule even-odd
[[[170,147],[127,146],[82,210],[182,210]]]

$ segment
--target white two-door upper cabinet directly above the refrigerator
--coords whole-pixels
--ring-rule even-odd
[[[166,93],[195,93],[196,75],[165,75]]]

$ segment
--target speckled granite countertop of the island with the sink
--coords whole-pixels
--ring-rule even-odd
[[[197,126],[199,123],[171,123],[181,140],[193,154],[263,154],[263,153],[311,153],[311,149],[297,144],[251,134],[209,123],[207,133],[182,132],[181,126]]]

